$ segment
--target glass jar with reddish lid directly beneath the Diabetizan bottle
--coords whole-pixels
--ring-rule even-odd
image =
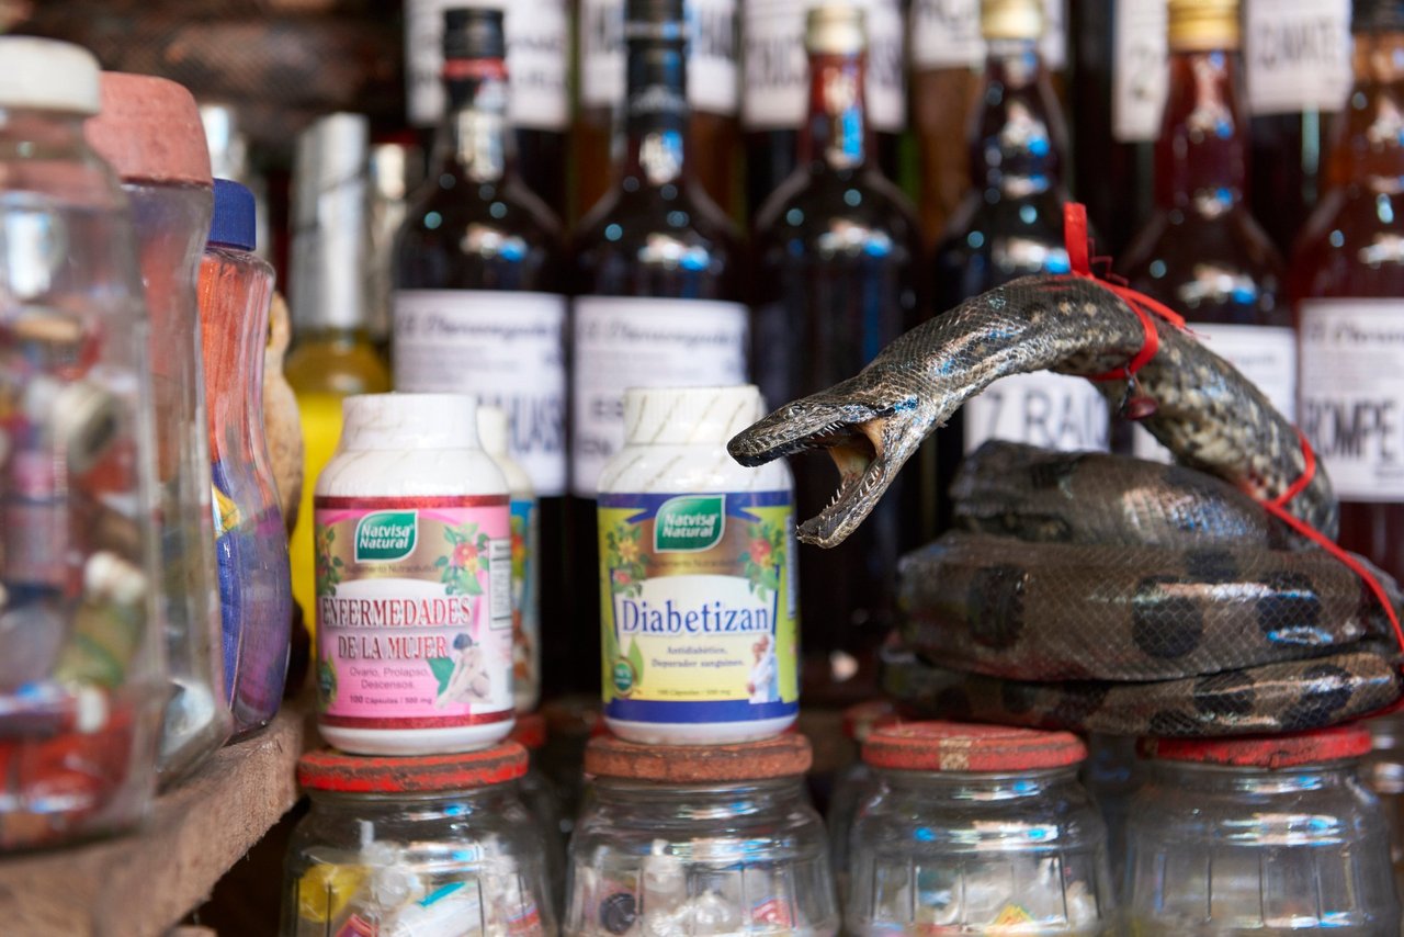
[[[809,740],[712,747],[590,740],[564,933],[837,934]]]

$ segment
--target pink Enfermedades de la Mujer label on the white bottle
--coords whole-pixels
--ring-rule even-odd
[[[317,497],[316,568],[323,722],[511,718],[507,497]]]

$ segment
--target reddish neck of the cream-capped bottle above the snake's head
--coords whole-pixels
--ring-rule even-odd
[[[863,108],[866,56],[809,56],[809,118],[800,129],[799,159],[834,170],[859,169],[872,150]]]

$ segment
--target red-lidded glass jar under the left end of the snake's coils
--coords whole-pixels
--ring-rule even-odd
[[[1106,832],[1067,732],[878,729],[849,834],[851,934],[1113,934]]]

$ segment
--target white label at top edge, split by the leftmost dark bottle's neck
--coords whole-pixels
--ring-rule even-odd
[[[570,58],[564,0],[503,4],[501,0],[406,0],[404,73],[410,122],[432,126],[444,115],[444,11],[505,10],[508,118],[514,126],[564,131],[570,121],[566,63]]]

